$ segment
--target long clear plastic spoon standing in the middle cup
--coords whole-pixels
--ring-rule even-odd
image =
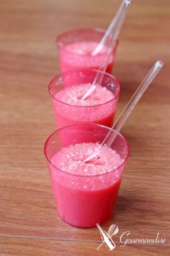
[[[94,78],[94,82],[90,86],[89,90],[85,93],[85,95],[81,98],[81,101],[84,101],[93,91],[94,89],[101,85],[101,82],[104,77],[104,72],[107,69],[107,64],[109,62],[109,56],[113,51],[113,48],[115,47],[115,43],[117,41],[117,38],[120,34],[120,30],[123,24],[123,21],[125,20],[126,14],[128,12],[128,6],[130,5],[130,0],[124,0],[122,3],[122,8],[120,10],[120,14],[117,17],[117,21],[115,22],[115,27],[113,27],[112,35],[110,35],[110,40],[107,42],[107,48],[104,53],[103,59],[99,66],[99,72],[97,72],[97,76]]]

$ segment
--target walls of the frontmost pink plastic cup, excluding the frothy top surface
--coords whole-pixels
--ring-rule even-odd
[[[122,158],[122,163],[108,173],[76,175],[66,173],[51,163],[61,148],[83,142],[101,143],[109,127],[98,124],[76,124],[55,131],[45,142],[45,156],[58,208],[63,221],[80,228],[91,228],[112,218],[120,182],[128,160],[128,142],[117,134],[111,148]],[[112,131],[114,134],[115,131]],[[64,140],[63,140],[64,138]],[[68,138],[68,140],[67,140]]]

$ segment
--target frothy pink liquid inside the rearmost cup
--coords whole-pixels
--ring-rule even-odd
[[[99,65],[102,61],[106,48],[103,47],[99,54],[92,56],[91,53],[94,51],[97,45],[97,42],[83,41],[71,43],[64,48],[59,48],[58,54],[62,72],[71,69],[99,69]],[[110,73],[112,71],[114,60],[115,50],[112,52],[109,58],[106,72]]]

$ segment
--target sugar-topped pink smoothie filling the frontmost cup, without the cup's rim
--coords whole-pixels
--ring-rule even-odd
[[[86,228],[104,223],[115,208],[125,165],[120,155],[106,145],[94,161],[83,163],[98,146],[85,142],[69,145],[50,161],[58,214],[72,226]]]

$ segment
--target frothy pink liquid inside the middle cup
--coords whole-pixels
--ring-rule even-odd
[[[70,124],[92,122],[112,126],[117,99],[110,90],[97,86],[86,100],[81,101],[91,84],[73,85],[56,93],[53,99],[58,128]],[[57,99],[57,100],[56,100]]]

